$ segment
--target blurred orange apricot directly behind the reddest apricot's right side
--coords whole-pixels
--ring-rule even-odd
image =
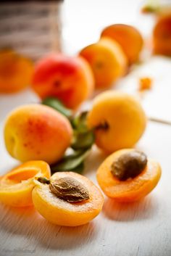
[[[96,88],[108,88],[125,74],[127,59],[119,44],[109,38],[101,38],[96,44],[80,51],[91,65]]]

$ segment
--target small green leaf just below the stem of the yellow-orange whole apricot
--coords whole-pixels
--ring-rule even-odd
[[[95,140],[93,131],[89,130],[86,133],[74,132],[72,149],[90,149]]]

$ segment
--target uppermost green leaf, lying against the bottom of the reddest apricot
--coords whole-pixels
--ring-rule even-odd
[[[57,98],[47,97],[46,99],[43,99],[41,103],[46,106],[52,107],[54,110],[59,111],[60,113],[62,113],[62,115],[69,119],[72,117],[72,110],[65,107],[64,104],[62,104],[62,102],[60,102]]]

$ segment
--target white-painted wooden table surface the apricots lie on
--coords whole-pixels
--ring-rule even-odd
[[[97,4],[97,1],[94,2]],[[112,1],[109,2],[113,4]],[[138,1],[130,2],[132,7],[132,4],[135,4],[135,9],[138,8]],[[78,4],[78,1],[73,1],[73,6],[76,3]],[[119,9],[122,3],[123,1],[117,3]],[[68,1],[65,1],[65,4],[66,9],[69,9],[71,4]],[[88,6],[90,7],[90,4]],[[71,10],[70,22],[72,22],[73,13],[74,11]],[[115,13],[117,13],[116,10]],[[123,15],[122,22],[126,22],[126,17]],[[68,26],[70,27],[71,24]],[[73,27],[70,30],[73,30]],[[64,30],[64,33],[66,36],[67,31]],[[171,120],[171,60],[152,58],[146,65],[120,80],[117,89],[122,88],[134,94],[138,77],[141,75],[151,75],[154,78],[153,90],[143,99],[147,115]],[[37,101],[38,99],[30,90],[22,91],[20,94],[0,96],[0,175],[18,164],[16,160],[9,157],[4,147],[4,117],[17,105]],[[170,256],[170,125],[149,122],[143,138],[136,146],[162,165],[161,181],[148,197],[141,202],[129,205],[119,205],[105,198],[104,207],[99,216],[91,223],[76,228],[54,226],[43,219],[33,207],[12,209],[0,205],[0,256]],[[96,169],[104,158],[104,154],[94,147],[86,160],[86,169],[83,174],[95,183]]]

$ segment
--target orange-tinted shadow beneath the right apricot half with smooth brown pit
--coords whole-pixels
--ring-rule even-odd
[[[102,213],[110,220],[133,221],[152,218],[157,214],[158,208],[159,202],[154,196],[132,203],[120,203],[106,198]]]

